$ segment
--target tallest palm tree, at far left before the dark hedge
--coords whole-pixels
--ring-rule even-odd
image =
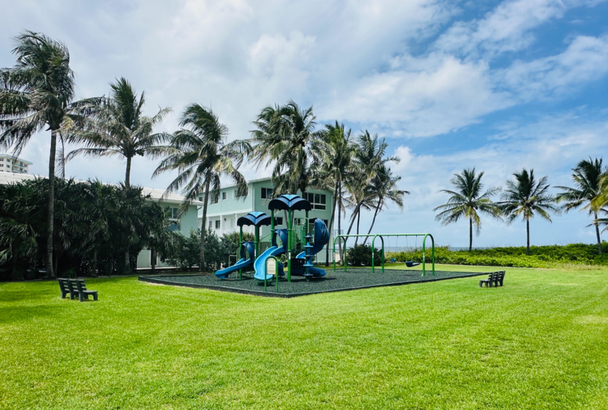
[[[15,37],[16,64],[0,70],[0,147],[14,147],[14,155],[33,134],[50,131],[49,190],[47,199],[47,276],[54,277],[55,150],[57,135],[66,122],[78,122],[94,100],[73,103],[74,72],[65,44],[26,30]],[[85,108],[83,108],[83,106]]]

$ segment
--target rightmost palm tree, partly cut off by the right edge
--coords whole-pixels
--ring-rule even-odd
[[[598,252],[602,253],[602,242],[599,237],[598,211],[599,208],[593,206],[593,201],[601,195],[601,179],[606,175],[606,170],[602,169],[602,159],[582,160],[572,169],[572,180],[575,183],[575,188],[568,186],[556,186],[562,190],[556,196],[558,202],[565,202],[562,208],[568,212],[570,210],[582,207],[582,210],[587,210],[590,216],[593,216],[593,224],[595,226],[595,235],[598,240]]]

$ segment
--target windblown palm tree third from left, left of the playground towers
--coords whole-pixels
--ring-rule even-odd
[[[199,266],[202,271],[205,268],[204,247],[210,190],[213,190],[213,196],[219,195],[219,177],[228,176],[237,183],[237,195],[247,196],[247,181],[238,167],[250,146],[239,140],[226,143],[228,128],[219,122],[210,108],[196,103],[185,108],[179,125],[182,129],[174,132],[170,145],[163,147],[167,157],[161,161],[153,176],[178,169],[179,175],[167,187],[165,196],[183,188],[185,192],[181,211],[187,210],[188,204],[204,192]]]

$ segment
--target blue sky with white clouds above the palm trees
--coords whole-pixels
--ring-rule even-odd
[[[447,199],[452,174],[485,171],[503,186],[534,168],[568,185],[570,168],[608,151],[608,2],[511,1],[106,1],[4,2],[0,66],[12,66],[11,37],[41,31],[67,44],[78,96],[108,92],[116,77],[147,93],[147,112],[212,104],[246,138],[266,104],[314,105],[319,124],[344,121],[386,137],[406,208],[384,211],[376,232],[430,231],[444,245],[468,244],[465,222],[442,227],[432,208]],[[49,137],[22,157],[47,174]],[[608,157],[607,157],[608,160]],[[151,180],[156,163],[137,158],[132,181]],[[120,159],[76,159],[67,174],[123,179]],[[244,168],[247,177],[268,170]],[[370,215],[362,217],[367,231]],[[533,244],[593,242],[586,214],[531,222]],[[605,237],[605,236],[604,236]],[[484,219],[474,245],[523,245],[525,225]]]

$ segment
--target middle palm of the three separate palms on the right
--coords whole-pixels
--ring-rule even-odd
[[[559,208],[554,205],[555,197],[547,193],[549,184],[546,176],[537,181],[534,179],[534,169],[528,173],[525,168],[520,173],[513,173],[513,176],[515,180],[507,180],[506,190],[497,205],[508,224],[519,216],[526,221],[526,255],[530,255],[530,219],[537,213],[551,222],[549,213],[559,213]]]

